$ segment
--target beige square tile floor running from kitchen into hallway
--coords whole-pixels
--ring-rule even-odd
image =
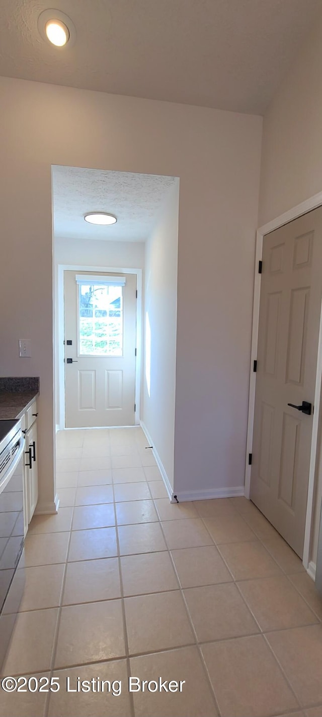
[[[171,505],[140,428],[57,437],[57,516],[34,517],[2,717],[322,716],[322,601],[245,498]],[[185,680],[132,693],[128,675]],[[83,679],[122,694],[67,693]]]

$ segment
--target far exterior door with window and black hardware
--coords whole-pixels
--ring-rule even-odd
[[[65,425],[135,423],[135,274],[64,272]]]

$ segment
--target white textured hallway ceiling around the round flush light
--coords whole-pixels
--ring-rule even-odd
[[[54,237],[144,242],[175,177],[53,167]],[[109,212],[117,224],[97,227],[86,212]]]

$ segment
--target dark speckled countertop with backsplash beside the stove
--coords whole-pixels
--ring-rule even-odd
[[[21,418],[37,396],[39,379],[0,377],[0,420]]]

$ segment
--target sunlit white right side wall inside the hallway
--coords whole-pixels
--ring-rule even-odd
[[[145,370],[142,422],[173,488],[179,181],[145,244]]]

